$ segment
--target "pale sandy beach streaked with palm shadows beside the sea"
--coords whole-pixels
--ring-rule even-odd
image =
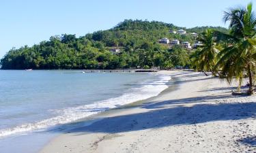
[[[158,73],[172,78],[160,95],[93,116],[40,153],[256,152],[255,95],[233,96],[236,84],[199,72]]]

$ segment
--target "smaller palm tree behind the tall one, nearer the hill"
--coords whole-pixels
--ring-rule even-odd
[[[216,64],[216,55],[218,54],[218,49],[216,48],[215,37],[213,35],[213,31],[211,29],[207,29],[204,31],[199,38],[198,41],[201,42],[201,46],[199,50],[193,54],[193,65],[195,65],[196,69],[199,71],[211,71],[212,74],[215,75],[214,65]],[[205,73],[205,75],[208,75]]]

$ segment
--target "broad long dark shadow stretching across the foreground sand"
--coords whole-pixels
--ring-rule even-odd
[[[253,102],[218,105],[197,104],[193,107],[179,105],[167,109],[151,109],[149,112],[101,118],[101,120],[89,126],[71,132],[76,135],[84,133],[120,133],[217,120],[241,120],[251,117],[256,117],[256,103]]]

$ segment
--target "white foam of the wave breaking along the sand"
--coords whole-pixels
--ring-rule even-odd
[[[24,133],[27,131],[46,129],[51,126],[74,122],[76,120],[86,118],[93,114],[104,112],[111,108],[157,96],[162,90],[168,88],[167,82],[169,82],[169,80],[171,80],[170,76],[160,75],[160,80],[146,83],[145,85],[138,88],[132,88],[130,92],[127,92],[120,97],[106,99],[104,101],[98,101],[89,105],[55,110],[61,115],[42,120],[40,122],[23,124],[14,128],[0,130],[0,137],[13,135],[15,133]]]

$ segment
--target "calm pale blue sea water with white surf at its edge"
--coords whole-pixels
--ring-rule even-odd
[[[169,80],[156,73],[0,71],[0,146],[8,148],[10,137],[22,139],[33,131],[156,96]]]

